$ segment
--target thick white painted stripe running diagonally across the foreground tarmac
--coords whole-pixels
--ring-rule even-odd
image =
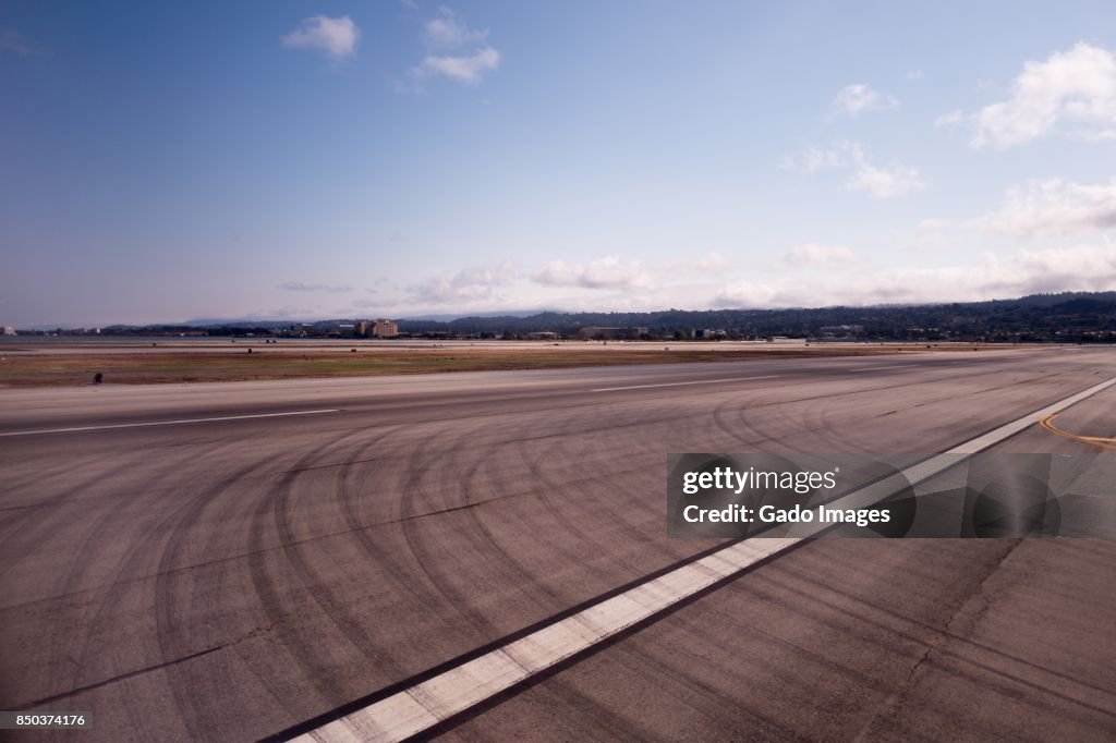
[[[856,509],[878,503],[907,483],[916,484],[953,466],[958,463],[959,454],[983,451],[1033,425],[1040,418],[1064,411],[1113,385],[1116,385],[1116,377],[954,446],[898,475],[853,491],[833,501],[830,505],[835,509]],[[748,539],[730,544],[433,678],[338,717],[295,740],[304,743],[402,741],[593,647],[719,580],[778,554],[804,539],[817,535],[829,525],[831,524],[817,522],[796,524],[796,528],[800,528],[798,533],[780,538]]]

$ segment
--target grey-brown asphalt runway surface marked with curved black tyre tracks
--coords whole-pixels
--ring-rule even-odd
[[[1113,376],[1061,348],[0,390],[0,710],[93,714],[28,741],[306,732],[718,547],[667,539],[670,452],[942,452]],[[432,733],[1113,740],[1114,576],[1110,540],[804,542]]]

